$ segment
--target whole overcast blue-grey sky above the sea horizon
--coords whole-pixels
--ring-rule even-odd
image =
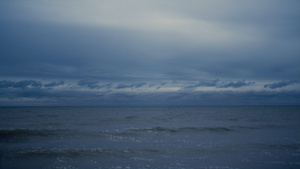
[[[299,0],[0,0],[0,106],[300,105]]]

